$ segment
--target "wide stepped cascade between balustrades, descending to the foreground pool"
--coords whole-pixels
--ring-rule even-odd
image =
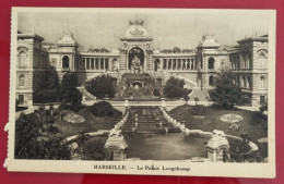
[[[122,126],[125,133],[161,134],[178,133],[180,128],[173,126],[164,119],[158,107],[131,107],[129,118]]]

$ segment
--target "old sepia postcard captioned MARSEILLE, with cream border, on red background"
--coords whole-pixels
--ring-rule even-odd
[[[275,11],[13,8],[11,22],[9,171],[275,176]]]

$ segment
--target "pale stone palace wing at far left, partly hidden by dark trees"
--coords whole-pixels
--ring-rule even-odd
[[[48,69],[48,52],[35,34],[17,34],[16,98],[19,106],[33,105],[33,91],[42,87]]]

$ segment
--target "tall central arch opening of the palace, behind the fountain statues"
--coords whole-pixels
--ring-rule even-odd
[[[135,62],[135,63],[134,63]],[[133,47],[128,51],[128,69],[137,64],[143,69],[144,65],[144,50],[140,47]]]

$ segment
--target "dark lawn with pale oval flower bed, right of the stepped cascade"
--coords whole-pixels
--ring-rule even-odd
[[[202,130],[206,132],[212,132],[213,130],[224,131],[226,134],[240,136],[241,133],[247,133],[252,142],[262,137],[268,137],[268,130],[265,128],[268,121],[265,119],[261,120],[262,123],[252,124],[251,119],[253,112],[247,110],[224,110],[217,109],[215,107],[209,107],[208,115],[204,119],[196,119],[192,114],[192,106],[179,106],[170,111],[175,116],[186,122],[186,127],[190,130]],[[244,118],[237,124],[240,125],[240,130],[232,131],[228,130],[230,123],[225,123],[220,120],[223,114],[237,113]]]

